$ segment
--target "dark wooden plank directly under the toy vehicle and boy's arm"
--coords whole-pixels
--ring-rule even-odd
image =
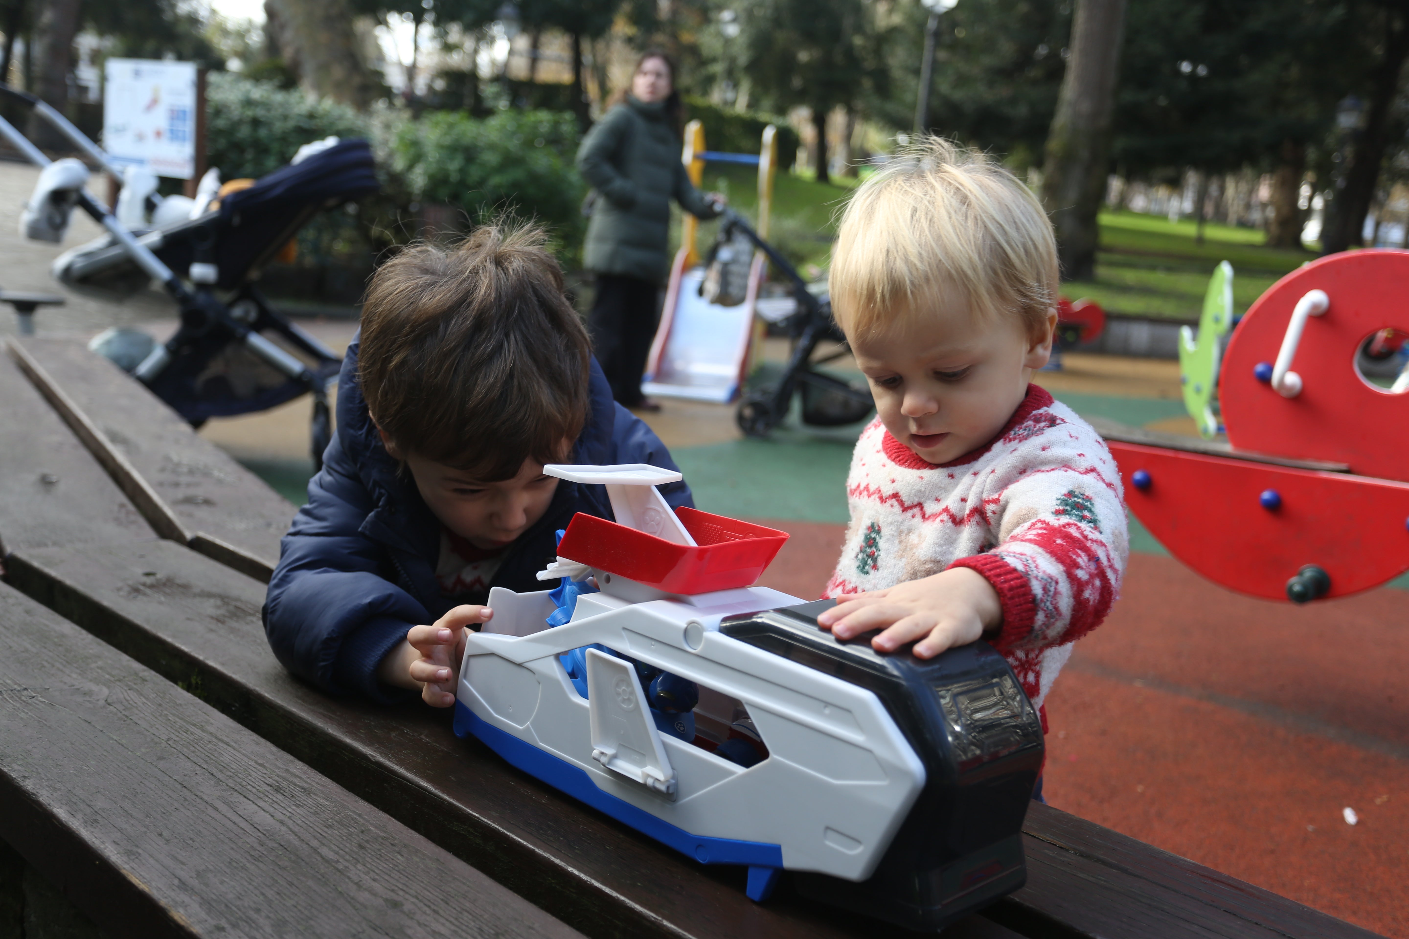
[[[337,701],[293,680],[263,636],[263,586],[178,545],[49,549],[13,557],[8,579],[589,935],[830,939],[875,925],[786,897],[751,902],[741,870],[702,876],[457,739],[448,711]]]

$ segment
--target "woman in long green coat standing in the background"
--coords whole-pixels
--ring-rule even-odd
[[[671,200],[696,218],[714,218],[724,204],[717,193],[700,196],[685,173],[682,111],[674,63],[648,49],[637,61],[630,92],[578,149],[578,169],[597,193],[583,251],[583,266],[597,282],[588,329],[612,394],[643,411],[661,408],[641,394],[641,373],[669,270]]]

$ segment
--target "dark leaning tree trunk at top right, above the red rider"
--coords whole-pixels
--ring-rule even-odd
[[[1375,197],[1379,165],[1385,159],[1386,124],[1399,87],[1399,72],[1409,56],[1409,17],[1386,13],[1385,53],[1371,73],[1370,113],[1365,130],[1348,152],[1346,168],[1322,228],[1322,253],[1333,255],[1363,245],[1365,214]]]

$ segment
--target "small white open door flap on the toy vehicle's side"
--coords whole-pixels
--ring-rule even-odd
[[[588,704],[592,705],[592,759],[675,798],[675,770],[645,708],[635,667],[624,659],[588,649]]]

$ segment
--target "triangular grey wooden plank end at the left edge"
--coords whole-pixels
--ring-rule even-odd
[[[156,538],[6,356],[0,408],[0,550]]]

